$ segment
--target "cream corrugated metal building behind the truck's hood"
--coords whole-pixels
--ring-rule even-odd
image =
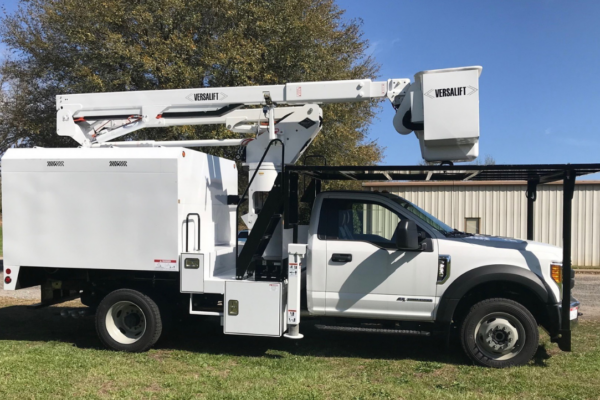
[[[404,197],[461,231],[527,237],[526,182],[368,182],[363,186]],[[537,241],[562,246],[562,188],[562,182],[537,188]],[[577,181],[572,232],[573,265],[600,266],[600,181]]]

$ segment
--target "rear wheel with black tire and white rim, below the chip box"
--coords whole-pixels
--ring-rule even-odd
[[[154,300],[132,289],[109,293],[98,306],[96,331],[109,349],[132,353],[150,349],[162,333],[162,319]]]

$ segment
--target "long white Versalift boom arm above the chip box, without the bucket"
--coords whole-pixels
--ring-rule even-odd
[[[91,146],[153,127],[225,124],[232,131],[247,132],[237,127],[255,120],[256,110],[239,110],[244,106],[341,103],[386,96],[399,105],[399,96],[409,83],[408,79],[358,79],[61,95],[57,96],[57,133]]]

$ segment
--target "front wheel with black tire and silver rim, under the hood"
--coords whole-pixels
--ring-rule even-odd
[[[461,342],[476,364],[505,368],[525,365],[537,351],[539,331],[529,310],[509,299],[475,304],[462,324]]]

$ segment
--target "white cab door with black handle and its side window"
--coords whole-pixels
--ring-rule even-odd
[[[437,241],[429,238],[426,251],[398,250],[396,226],[407,217],[393,203],[335,195],[323,199],[319,223],[326,240],[325,314],[432,320]]]

